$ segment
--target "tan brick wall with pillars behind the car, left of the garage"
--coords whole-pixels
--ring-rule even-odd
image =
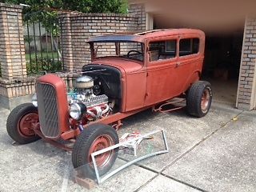
[[[146,29],[144,6],[130,8],[130,14],[61,14],[61,46],[67,71],[81,70],[90,62],[90,49],[86,40],[92,36],[121,31]],[[13,108],[22,97],[34,94],[37,77],[27,77],[26,54],[22,26],[22,6],[0,3],[0,106]],[[67,87],[73,86],[74,76],[59,73]],[[15,102],[10,102],[12,99]]]

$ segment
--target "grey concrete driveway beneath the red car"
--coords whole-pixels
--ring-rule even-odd
[[[71,179],[71,155],[45,142],[12,145],[0,110],[0,191],[88,191]],[[204,118],[184,111],[128,118],[122,130],[165,129],[170,152],[130,166],[91,191],[256,191],[256,115],[213,103]]]

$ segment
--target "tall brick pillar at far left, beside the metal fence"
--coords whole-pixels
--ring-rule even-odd
[[[22,6],[0,3],[0,65],[2,78],[26,77]]]

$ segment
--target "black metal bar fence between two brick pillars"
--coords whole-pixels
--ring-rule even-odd
[[[27,16],[27,15],[26,15]],[[42,74],[63,69],[58,19],[47,23],[26,22],[24,40],[27,74]]]

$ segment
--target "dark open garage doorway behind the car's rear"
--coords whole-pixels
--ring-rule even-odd
[[[206,33],[205,61],[202,79],[213,86],[214,102],[235,106],[243,30],[230,34]]]

